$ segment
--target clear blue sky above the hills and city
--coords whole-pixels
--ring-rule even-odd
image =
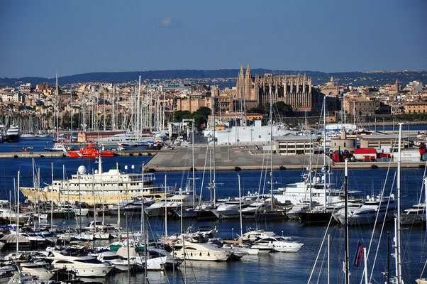
[[[426,70],[427,1],[0,1],[0,77]]]

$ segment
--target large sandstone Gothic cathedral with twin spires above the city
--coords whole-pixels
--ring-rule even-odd
[[[273,104],[282,101],[291,105],[294,111],[318,111],[323,104],[323,94],[311,85],[311,77],[275,76],[272,73],[253,77],[249,64],[246,72],[242,64],[236,84],[237,98],[241,98],[247,108],[252,108],[260,104],[268,104],[270,92]]]

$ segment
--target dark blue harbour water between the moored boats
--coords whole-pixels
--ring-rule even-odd
[[[40,146],[47,139],[40,139]],[[21,141],[20,143],[25,143]],[[38,142],[28,141],[30,145],[36,147]],[[10,146],[11,144],[3,144],[0,146]],[[135,165],[135,171],[140,170],[143,163],[147,163],[150,157],[114,157],[104,158],[104,170],[118,163],[122,169],[124,165]],[[189,157],[188,159],[191,159]],[[182,161],[189,163],[189,160]],[[85,165],[89,172],[91,169],[96,169],[98,165],[95,160],[91,159],[72,159],[72,158],[38,158],[35,159],[35,164],[40,168],[41,182],[50,183],[51,180],[51,163],[55,178],[62,178],[62,165],[65,165],[66,175],[77,172],[79,165]],[[21,185],[30,186],[33,182],[32,176],[32,160],[31,159],[0,159],[0,198],[9,199],[9,192],[13,195],[13,178],[17,178],[17,172],[21,170]],[[131,170],[130,170],[131,171]],[[424,169],[403,169],[401,171],[401,188],[402,188],[402,207],[406,209],[418,202],[421,194],[421,182]],[[300,170],[283,170],[275,171],[273,176],[276,186],[284,186],[290,182],[296,182],[301,179]],[[387,170],[349,170],[349,188],[350,190],[360,190],[362,195],[373,195],[379,193],[384,187],[386,192],[392,190],[395,193],[395,188],[392,188],[395,169],[390,170],[388,182],[384,186],[384,180],[387,175]],[[218,197],[228,197],[238,195],[238,177],[242,180],[242,188],[244,192],[257,191],[260,187],[260,171],[242,171],[242,172],[217,172],[216,182],[218,182]],[[163,183],[165,173],[155,173],[157,182]],[[268,175],[267,175],[268,176]],[[184,187],[187,178],[191,177],[191,173],[167,173],[168,185],[177,185]],[[201,189],[202,172],[196,172],[196,188]],[[205,176],[205,185],[209,179],[209,173]],[[340,187],[343,181],[343,173],[340,170],[334,170],[331,180]],[[277,182],[277,184],[276,184]],[[268,192],[269,186],[265,185],[265,191]],[[394,186],[395,187],[395,186]],[[209,200],[209,192],[204,187],[204,199]],[[23,197],[21,197],[22,199]],[[130,226],[135,229],[140,229],[140,217],[129,220]],[[106,217],[107,222],[116,222],[113,217]],[[84,222],[89,222],[89,219],[84,219]],[[67,226],[63,219],[57,219],[60,226]],[[123,221],[122,221],[123,222]],[[165,223],[162,219],[150,219],[150,237],[156,237],[164,234]],[[196,222],[195,220],[184,220],[184,227],[192,226],[197,229],[198,226],[216,226],[219,230],[218,236],[230,238],[240,234],[240,222],[238,219],[228,221],[214,222]],[[75,222],[71,221],[70,226],[75,226]],[[169,234],[179,231],[179,222],[174,220],[168,221]],[[187,283],[307,283],[308,276],[313,267],[314,258],[320,248],[321,240],[326,231],[326,226],[304,226],[298,222],[276,221],[276,222],[253,222],[244,220],[243,231],[249,227],[258,227],[275,231],[277,234],[291,236],[296,241],[301,241],[305,246],[299,253],[270,253],[266,256],[245,256],[238,262],[192,262],[187,263]],[[386,225],[386,231],[390,231],[393,235],[393,224]],[[333,225],[328,231],[331,235],[331,283],[343,283],[342,263],[344,256],[344,229],[342,226]],[[353,258],[357,242],[360,241],[362,246],[368,246],[372,234],[372,226],[353,226],[350,227],[350,258]],[[372,271],[375,249],[379,239],[379,253],[376,266],[373,269],[372,283],[384,283],[384,275],[382,272],[386,270],[386,251],[387,251],[387,234],[384,231],[382,237],[379,237],[380,230],[377,229],[374,234],[374,244],[368,259],[368,273]],[[426,261],[426,231],[421,226],[406,228],[402,231],[402,251],[404,251],[404,280],[405,283],[414,283],[414,280],[421,276],[423,265]],[[390,247],[392,250],[392,248]],[[326,283],[326,244],[323,245],[319,255],[318,264],[312,278],[311,283]],[[390,269],[394,269],[394,258],[391,259]],[[352,261],[350,260],[350,263]],[[363,264],[359,268],[350,265],[351,283],[360,283],[362,277]],[[183,266],[176,275],[176,283],[183,283],[182,275],[184,273]],[[426,275],[424,275],[425,277]],[[172,273],[148,273],[150,283],[174,283]],[[103,283],[126,283],[128,282],[127,274],[113,274],[106,278],[95,279]],[[131,283],[143,283],[143,273],[131,275]]]

